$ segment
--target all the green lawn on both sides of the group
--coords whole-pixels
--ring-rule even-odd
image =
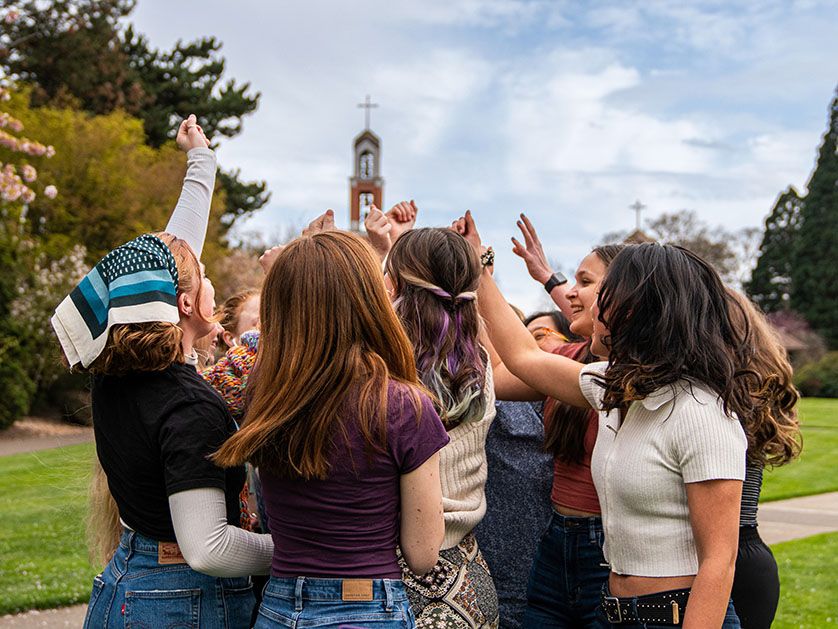
[[[803,400],[800,415],[803,455],[766,473],[763,500],[838,491],[838,400]],[[0,458],[0,614],[87,601],[97,572],[84,541],[92,457],[83,444]],[[774,552],[783,582],[774,627],[838,622],[838,533]]]

